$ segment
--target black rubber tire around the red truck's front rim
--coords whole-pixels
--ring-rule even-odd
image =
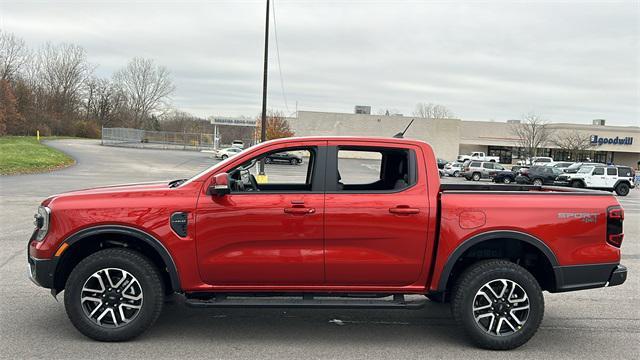
[[[85,313],[81,302],[85,281],[106,268],[122,269],[133,275],[143,295],[137,315],[119,327],[97,324]],[[164,300],[164,285],[158,269],[142,254],[123,248],[101,250],[86,257],[69,275],[64,292],[65,309],[73,326],[83,335],[98,341],[127,341],[142,334],[160,316]]]

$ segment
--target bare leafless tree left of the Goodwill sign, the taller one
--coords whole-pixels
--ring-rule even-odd
[[[549,143],[551,132],[548,121],[536,113],[522,116],[522,121],[511,125],[511,133],[516,136],[517,146],[524,149],[526,157],[538,155],[538,149]]]

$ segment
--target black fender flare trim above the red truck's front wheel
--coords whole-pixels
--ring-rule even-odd
[[[128,235],[131,237],[135,237],[136,239],[151,246],[151,248],[153,248],[153,250],[155,250],[158,255],[160,255],[160,258],[164,262],[166,270],[169,274],[171,290],[173,292],[181,290],[178,268],[176,267],[176,263],[173,261],[171,254],[169,253],[167,248],[160,242],[160,240],[142,230],[124,225],[99,225],[87,229],[82,229],[66,238],[62,243],[67,243],[69,244],[69,247],[72,247],[73,244],[76,244],[90,236],[100,234]]]

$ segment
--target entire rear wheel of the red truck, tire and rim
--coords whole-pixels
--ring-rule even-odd
[[[536,279],[523,267],[506,260],[484,260],[458,278],[451,311],[479,347],[515,349],[540,327],[544,297]]]

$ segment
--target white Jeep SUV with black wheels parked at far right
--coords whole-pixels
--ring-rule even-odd
[[[557,184],[615,191],[620,196],[627,196],[629,189],[634,188],[633,179],[633,170],[628,166],[583,166],[575,174],[559,176]]]

